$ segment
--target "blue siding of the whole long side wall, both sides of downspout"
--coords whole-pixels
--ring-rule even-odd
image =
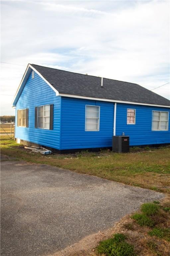
[[[100,106],[100,130],[85,131],[85,105]],[[135,124],[127,124],[127,109],[136,109]],[[170,111],[169,108],[117,103],[116,135],[125,132],[130,145],[170,143],[168,131],[152,131],[152,110]],[[62,97],[61,148],[111,147],[113,136],[114,103]]]

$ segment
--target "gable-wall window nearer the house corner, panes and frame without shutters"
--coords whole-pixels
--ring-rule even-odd
[[[50,105],[38,107],[38,128],[48,129],[50,123]]]

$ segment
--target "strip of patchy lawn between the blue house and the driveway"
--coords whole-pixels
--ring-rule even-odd
[[[51,154],[24,149],[14,140],[1,140],[1,153],[33,163],[49,164],[124,184],[170,193],[170,147],[132,148],[130,153],[111,151]]]

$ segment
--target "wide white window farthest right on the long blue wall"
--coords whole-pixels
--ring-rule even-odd
[[[152,111],[152,131],[168,131],[168,112]]]

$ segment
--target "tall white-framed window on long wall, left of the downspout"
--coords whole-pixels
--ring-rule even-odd
[[[99,131],[100,107],[86,105],[85,131]]]

